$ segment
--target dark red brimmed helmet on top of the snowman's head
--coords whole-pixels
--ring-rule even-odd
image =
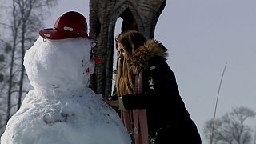
[[[39,34],[49,39],[90,38],[87,34],[86,18],[75,11],[66,12],[56,20],[54,28],[40,30]]]

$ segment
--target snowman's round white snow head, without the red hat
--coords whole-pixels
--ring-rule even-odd
[[[81,90],[94,72],[94,42],[85,38],[43,40],[26,51],[24,66],[35,89]]]

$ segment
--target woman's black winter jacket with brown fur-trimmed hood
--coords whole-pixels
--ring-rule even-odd
[[[135,73],[143,70],[143,92],[136,96],[122,96],[123,105],[126,110],[146,109],[149,134],[153,138],[157,130],[178,127],[182,136],[175,135],[176,138],[187,139],[184,142],[190,144],[201,143],[197,126],[180,97],[174,72],[166,63],[166,57],[166,48],[153,40],[146,42],[131,56],[131,69]],[[170,134],[173,134],[171,130]],[[178,131],[174,130],[174,134]]]

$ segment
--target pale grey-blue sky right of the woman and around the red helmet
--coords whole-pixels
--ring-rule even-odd
[[[89,0],[60,0],[46,27],[69,10],[84,14],[89,25]],[[217,118],[238,106],[256,110],[255,15],[255,0],[169,0],[158,19],[154,38],[169,50],[167,62],[203,143],[226,62]]]

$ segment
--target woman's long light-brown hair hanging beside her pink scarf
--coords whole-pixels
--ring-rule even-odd
[[[126,33],[119,34],[118,38],[115,39],[116,47],[118,43],[123,46],[125,51],[123,61],[118,58],[118,69],[116,74],[115,86],[118,96],[126,94],[135,94],[135,76],[132,70],[130,70],[130,57],[139,47],[144,46],[146,38],[143,34],[135,30],[127,31]],[[119,56],[119,55],[118,55]]]

